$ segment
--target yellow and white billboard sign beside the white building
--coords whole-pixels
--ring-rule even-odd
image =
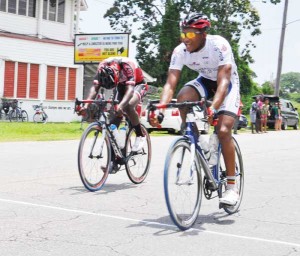
[[[99,63],[109,57],[128,57],[129,34],[75,35],[74,63]]]

